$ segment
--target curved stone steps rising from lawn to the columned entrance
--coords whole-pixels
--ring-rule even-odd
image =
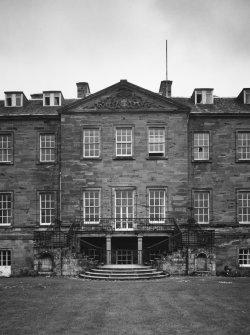
[[[169,274],[143,265],[104,265],[80,274],[80,278],[96,280],[151,280],[168,277]]]

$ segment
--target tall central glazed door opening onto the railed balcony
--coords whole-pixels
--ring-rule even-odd
[[[118,192],[120,196],[118,197]],[[127,193],[127,195],[126,195]],[[129,193],[131,197],[129,197]],[[115,189],[115,230],[133,230],[135,211],[135,190]],[[131,202],[131,203],[130,203]]]

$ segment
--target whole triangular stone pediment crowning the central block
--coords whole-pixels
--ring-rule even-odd
[[[125,111],[125,110],[186,110],[187,107],[145,90],[125,80],[95,94],[78,100],[64,110],[84,111]]]

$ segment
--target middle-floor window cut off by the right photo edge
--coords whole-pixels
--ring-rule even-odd
[[[237,218],[240,224],[250,224],[250,190],[237,192]]]

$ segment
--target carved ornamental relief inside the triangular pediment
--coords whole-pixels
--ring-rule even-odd
[[[94,109],[140,109],[152,107],[161,106],[156,105],[155,101],[142,97],[129,89],[120,89],[108,97],[101,98],[85,106],[85,108]]]

